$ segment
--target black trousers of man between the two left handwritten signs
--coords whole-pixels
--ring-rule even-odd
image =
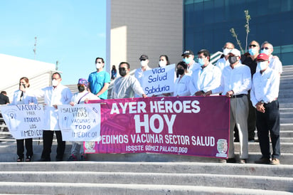
[[[65,152],[65,142],[62,140],[61,131],[50,130],[43,130],[43,152],[41,156],[42,159],[50,160],[54,132],[57,138],[56,159],[63,159],[63,155]]]

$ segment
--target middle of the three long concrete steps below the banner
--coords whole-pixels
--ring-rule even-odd
[[[151,184],[217,186],[293,191],[292,177],[231,174],[169,174],[134,172],[0,172],[0,181],[30,183]]]

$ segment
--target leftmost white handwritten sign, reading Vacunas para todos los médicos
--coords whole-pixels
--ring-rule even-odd
[[[4,105],[0,109],[15,139],[43,136],[43,105]]]

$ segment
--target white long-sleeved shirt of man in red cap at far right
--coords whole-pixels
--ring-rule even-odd
[[[279,73],[268,67],[263,73],[256,72],[252,78],[250,100],[255,106],[257,102],[265,103],[276,100],[279,95]]]

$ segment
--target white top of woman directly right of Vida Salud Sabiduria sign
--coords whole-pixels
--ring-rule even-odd
[[[183,75],[183,77],[180,79],[176,78],[175,84],[174,84],[174,93],[173,96],[189,96],[191,95],[189,91],[189,85],[191,82],[191,76],[190,75]]]

